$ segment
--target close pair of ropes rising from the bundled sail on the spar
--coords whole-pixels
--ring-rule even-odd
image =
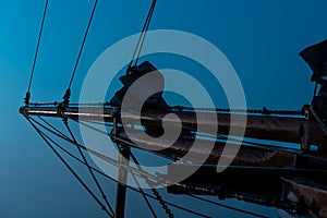
[[[148,31],[148,27],[149,27],[149,24],[150,24],[150,21],[152,21],[154,11],[155,11],[156,3],[157,3],[157,0],[153,0],[153,3],[152,3],[152,5],[150,5],[150,9],[149,9],[149,11],[148,11],[148,13],[147,13],[145,23],[144,23],[143,28],[142,28],[142,31],[141,31],[141,35],[140,35],[138,40],[137,40],[137,43],[136,43],[136,47],[135,47],[135,49],[134,49],[134,52],[133,52],[131,62],[130,62],[130,64],[129,64],[129,66],[128,66],[128,74],[131,72],[131,70],[132,70],[132,68],[133,68],[132,65],[133,65],[134,58],[135,58],[136,53],[137,53],[137,56],[136,56],[136,59],[135,59],[134,66],[137,65],[137,61],[138,61],[141,51],[142,51],[143,46],[144,46],[145,37],[146,37],[146,34],[147,34],[147,31]]]

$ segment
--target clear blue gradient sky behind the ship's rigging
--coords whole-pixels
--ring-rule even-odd
[[[105,217],[17,112],[44,3],[0,0],[0,217]],[[95,59],[110,45],[140,32],[149,4],[149,0],[99,0],[72,87],[73,100]],[[61,100],[92,5],[93,1],[49,1],[32,100]],[[150,29],[185,31],[216,45],[239,73],[250,108],[298,110],[313,93],[311,71],[299,52],[326,38],[326,0],[158,0]],[[133,204],[133,195],[130,201],[130,217],[148,215]],[[270,209],[266,213],[271,215]]]

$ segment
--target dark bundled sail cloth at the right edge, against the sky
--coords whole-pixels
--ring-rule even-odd
[[[300,52],[313,71],[311,81],[327,85],[327,39]]]

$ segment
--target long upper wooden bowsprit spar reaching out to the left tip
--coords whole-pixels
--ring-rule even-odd
[[[28,106],[20,109],[21,113],[29,116],[45,116],[45,117],[69,117],[71,119],[81,120],[97,120],[105,122],[112,122],[113,113],[118,110],[114,107],[39,107]],[[162,119],[168,113],[173,112],[177,114],[183,125],[195,129],[197,124],[203,124],[207,130],[214,129],[217,125],[216,121],[205,119],[209,112],[198,112],[205,123],[198,123],[196,118],[191,116],[189,111],[179,110],[157,110],[147,111],[142,116],[144,124],[160,124],[156,122]],[[243,120],[246,116],[247,122],[244,124],[238,120]],[[208,117],[209,118],[209,117]],[[138,121],[138,116],[135,113],[124,113],[121,119],[124,119],[131,124]],[[119,121],[121,120],[119,119]],[[217,113],[218,119],[218,133],[228,135],[230,130],[230,114],[229,113]],[[169,120],[171,124],[178,124],[178,119]],[[307,145],[317,145],[319,149],[327,150],[327,145],[323,142],[327,142],[324,131],[319,128],[317,122],[310,119],[307,120],[304,116],[302,117],[281,117],[281,116],[257,116],[257,114],[234,114],[234,128],[245,129],[244,137],[269,140],[286,143],[298,143],[302,144],[303,149],[308,149]],[[238,136],[238,135],[234,135]]]

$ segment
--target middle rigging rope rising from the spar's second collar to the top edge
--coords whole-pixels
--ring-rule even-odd
[[[74,65],[74,70],[72,72],[69,86],[68,86],[68,88],[65,90],[65,94],[63,96],[63,105],[65,105],[65,106],[69,105],[69,102],[70,102],[71,86],[72,86],[73,80],[74,80],[75,74],[76,74],[77,65],[78,65],[78,62],[80,62],[80,59],[81,59],[81,56],[82,56],[82,51],[83,51],[83,48],[84,48],[84,45],[85,45],[85,41],[86,41],[86,38],[87,38],[87,35],[88,35],[88,31],[89,31],[92,20],[94,17],[94,13],[95,13],[95,10],[97,8],[97,4],[98,4],[98,0],[95,0],[94,7],[93,7],[93,10],[92,10],[88,23],[87,23],[87,27],[86,27],[86,31],[85,31],[85,34],[84,34],[84,37],[83,37],[83,41],[82,41],[82,45],[81,45],[81,48],[80,48],[80,51],[78,51],[78,55],[77,55],[77,59],[76,59],[76,62],[75,62],[75,65]]]

